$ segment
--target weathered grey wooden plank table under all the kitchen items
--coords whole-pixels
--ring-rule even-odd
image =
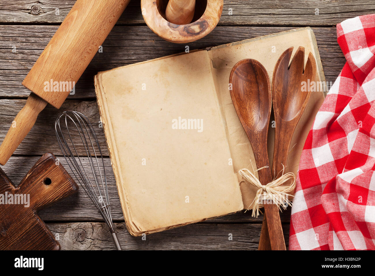
[[[0,5],[0,140],[24,106],[30,91],[21,85],[74,0],[2,0]],[[327,81],[335,81],[345,63],[336,41],[335,25],[362,14],[375,13],[374,0],[224,0],[216,29],[190,43],[190,50],[240,41],[296,27],[313,27]],[[145,25],[139,0],[132,0],[97,53],[62,109],[73,109],[99,123],[93,76],[117,66],[179,53],[185,45],[163,41]],[[40,113],[36,124],[2,169],[18,183],[45,152],[60,154],[54,121],[59,110],[51,106]],[[109,194],[118,238],[123,249],[257,249],[263,216],[237,213],[206,222],[151,234],[142,240],[130,236],[111,169],[103,133]],[[62,160],[64,163],[65,160]],[[67,166],[66,166],[67,167]],[[68,170],[69,171],[69,170]],[[87,197],[80,192],[42,212],[40,216],[56,235],[62,249],[115,249],[108,228]],[[281,215],[288,245],[290,209]]]

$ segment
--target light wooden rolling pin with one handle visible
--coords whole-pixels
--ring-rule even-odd
[[[0,146],[1,165],[26,137],[47,103],[61,107],[69,88],[77,83],[129,2],[77,0],[22,83],[33,93]]]

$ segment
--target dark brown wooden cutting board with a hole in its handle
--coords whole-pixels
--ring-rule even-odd
[[[77,190],[51,153],[36,162],[17,188],[0,168],[0,250],[59,250],[60,244],[37,212]]]

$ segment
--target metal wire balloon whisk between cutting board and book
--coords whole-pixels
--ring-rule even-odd
[[[121,250],[112,222],[104,159],[92,124],[82,113],[66,110],[58,114],[55,131],[66,162],[107,222],[116,247]],[[81,147],[75,145],[74,141],[80,141]],[[80,155],[79,150],[86,152],[86,155]]]

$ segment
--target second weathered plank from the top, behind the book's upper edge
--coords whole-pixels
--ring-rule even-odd
[[[0,98],[26,98],[30,91],[21,85],[28,71],[53,36],[57,26],[1,26]],[[190,50],[202,49],[270,33],[291,27],[217,27],[205,38],[190,43]],[[335,28],[314,28],[327,81],[334,81],[345,64],[336,41]],[[146,26],[117,26],[103,44],[80,81],[75,95],[68,98],[95,99],[93,77],[98,71],[167,56],[185,51],[186,45],[173,44],[155,35]],[[16,53],[12,52],[16,47]],[[2,107],[0,106],[0,110]]]

